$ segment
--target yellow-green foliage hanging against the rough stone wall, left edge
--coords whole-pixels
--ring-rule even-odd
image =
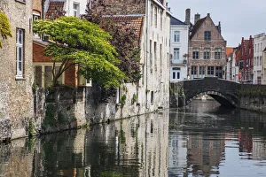
[[[6,39],[7,36],[12,37],[11,25],[6,15],[3,12],[0,12],[0,35],[3,39]],[[2,40],[0,39],[0,48],[2,48]]]

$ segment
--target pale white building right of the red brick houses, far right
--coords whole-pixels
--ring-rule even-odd
[[[266,47],[266,35],[262,33],[260,35],[254,35],[254,84],[265,84],[266,79],[262,74],[262,65],[263,65],[263,50]]]

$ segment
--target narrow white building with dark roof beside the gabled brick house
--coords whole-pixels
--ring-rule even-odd
[[[189,25],[171,17],[170,82],[187,79]]]

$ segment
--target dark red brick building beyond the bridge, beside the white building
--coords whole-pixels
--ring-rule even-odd
[[[242,37],[236,51],[236,62],[239,66],[239,82],[253,83],[254,68],[254,38],[250,35],[248,40]],[[259,81],[261,83],[261,79]]]

